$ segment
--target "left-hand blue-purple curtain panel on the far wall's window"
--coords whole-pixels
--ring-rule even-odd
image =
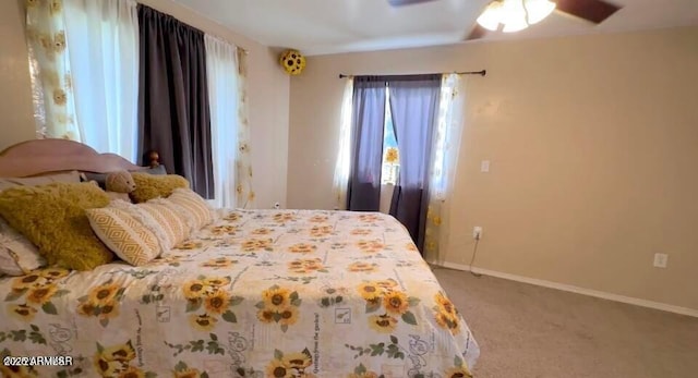
[[[347,209],[378,211],[385,123],[385,80],[357,76],[353,81],[351,167]]]

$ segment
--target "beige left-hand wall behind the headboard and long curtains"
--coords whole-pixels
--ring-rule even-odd
[[[171,0],[140,1],[249,50],[250,125],[256,206],[286,204],[289,78],[277,53]],[[23,0],[0,1],[0,149],[35,137]]]

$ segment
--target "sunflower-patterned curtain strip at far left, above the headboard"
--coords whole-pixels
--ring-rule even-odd
[[[26,37],[38,138],[81,142],[62,0],[26,0]]]

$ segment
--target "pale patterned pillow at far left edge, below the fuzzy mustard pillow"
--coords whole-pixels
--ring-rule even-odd
[[[39,249],[0,218],[0,275],[24,276],[44,266]]]

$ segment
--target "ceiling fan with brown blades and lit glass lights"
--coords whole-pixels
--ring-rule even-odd
[[[435,0],[387,0],[393,7],[411,5]],[[478,17],[478,22],[465,38],[472,40],[482,38],[488,31],[497,31],[500,24],[504,24],[502,32],[518,32],[535,24],[545,19],[553,10],[557,12],[574,15],[576,17],[600,24],[613,13],[618,11],[621,7],[604,0],[492,0],[482,14]],[[518,12],[519,19],[512,23],[505,23],[505,12]],[[506,13],[510,16],[512,13]]]

